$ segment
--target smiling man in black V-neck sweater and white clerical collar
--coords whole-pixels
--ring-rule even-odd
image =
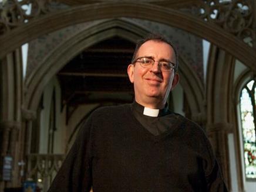
[[[177,60],[161,36],[137,44],[135,101],[93,112],[49,191],[227,191],[203,130],[167,109]]]

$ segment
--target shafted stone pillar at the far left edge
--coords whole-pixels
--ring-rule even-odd
[[[21,103],[22,103],[22,61],[21,50],[17,49],[0,61],[0,132],[2,174],[3,160],[12,157],[12,178],[0,180],[0,191],[6,187],[21,187],[18,162],[21,160]]]

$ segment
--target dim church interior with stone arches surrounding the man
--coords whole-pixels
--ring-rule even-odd
[[[133,102],[152,32],[178,50],[170,110],[206,131],[229,191],[256,191],[255,0],[0,0],[0,191],[47,191],[87,117]]]

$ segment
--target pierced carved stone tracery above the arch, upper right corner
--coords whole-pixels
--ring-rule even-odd
[[[204,0],[198,4],[200,13],[196,15],[256,47],[254,6],[250,0]]]

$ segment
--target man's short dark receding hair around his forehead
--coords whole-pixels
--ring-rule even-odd
[[[169,39],[167,39],[167,37],[161,35],[160,33],[149,33],[149,35],[147,35],[143,39],[140,39],[137,42],[134,53],[133,53],[132,64],[136,61],[137,53],[138,53],[140,47],[142,46],[142,44],[146,43],[149,40],[154,40],[154,41],[157,41],[157,42],[164,42],[164,43],[170,44],[170,46],[174,50],[175,58],[176,58],[174,71],[177,72],[178,71],[178,53],[177,53],[177,49],[174,46],[174,44],[171,43]]]

